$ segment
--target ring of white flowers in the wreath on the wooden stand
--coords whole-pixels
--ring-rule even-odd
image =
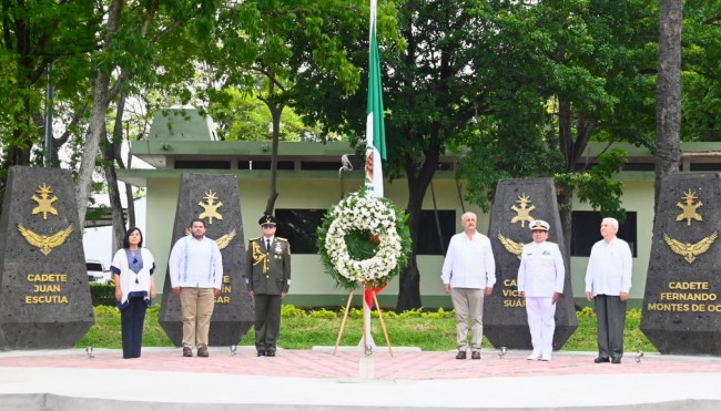
[[[338,203],[332,218],[325,248],[338,274],[366,282],[382,279],[396,268],[402,244],[393,208],[376,197],[349,195]],[[368,230],[378,239],[375,256],[357,260],[348,254],[345,236],[353,230]]]

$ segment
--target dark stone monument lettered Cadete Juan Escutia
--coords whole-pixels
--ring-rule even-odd
[[[0,269],[0,350],[71,348],[95,322],[69,171],[10,167]]]

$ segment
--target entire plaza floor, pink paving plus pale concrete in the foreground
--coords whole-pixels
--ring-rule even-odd
[[[628,353],[621,364],[593,353],[455,352],[378,347],[280,350],[211,347],[210,358],[180,349],[0,351],[0,410],[447,410],[721,409],[721,358]],[[362,376],[363,371],[363,376]],[[370,372],[372,371],[372,372]],[[360,378],[364,377],[364,378]]]

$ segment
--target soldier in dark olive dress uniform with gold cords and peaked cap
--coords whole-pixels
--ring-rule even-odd
[[[291,287],[291,244],[276,237],[277,219],[264,215],[258,220],[263,236],[247,246],[245,281],[255,306],[255,349],[258,357],[275,357],[281,330],[281,301]]]

